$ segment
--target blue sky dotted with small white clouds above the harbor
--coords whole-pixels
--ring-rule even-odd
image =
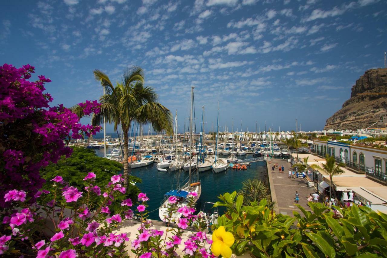
[[[130,65],[188,124],[190,90],[205,131],[322,130],[355,81],[384,66],[383,0],[2,1],[0,62],[31,64],[53,105],[102,94]],[[88,123],[89,119],[82,119]],[[227,127],[226,127],[227,124]],[[298,128],[300,129],[300,128]],[[111,132],[112,126],[106,127]],[[147,131],[145,128],[144,131]]]

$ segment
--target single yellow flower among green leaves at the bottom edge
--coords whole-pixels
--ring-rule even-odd
[[[230,258],[232,251],[230,246],[234,243],[234,236],[231,232],[226,232],[223,226],[214,230],[212,234],[211,251],[215,256],[222,255],[224,258]]]

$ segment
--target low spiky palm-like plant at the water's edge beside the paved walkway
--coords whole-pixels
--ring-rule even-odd
[[[242,182],[242,188],[237,191],[236,196],[243,195],[243,206],[251,205],[253,201],[258,203],[262,199],[267,200],[267,207],[273,209],[276,204],[275,201],[271,201],[270,191],[266,184],[259,179],[247,179]]]

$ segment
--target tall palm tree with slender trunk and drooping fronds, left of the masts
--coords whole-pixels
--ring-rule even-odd
[[[109,77],[102,71],[94,70],[94,78],[100,81],[105,94],[99,98],[101,112],[91,117],[92,125],[106,122],[114,124],[114,130],[121,125],[123,132],[123,178],[128,184],[128,131],[132,122],[152,124],[156,132],[172,133],[172,115],[168,108],[158,102],[158,95],[152,87],[144,86],[144,73],[141,67],[131,66],[122,76],[122,83],[113,86]]]

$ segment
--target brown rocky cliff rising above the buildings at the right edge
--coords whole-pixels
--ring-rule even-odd
[[[380,92],[387,92],[387,69],[366,71],[352,86],[351,98],[327,119],[324,129],[356,130],[371,126],[379,120],[380,113],[387,112],[387,95],[357,94]]]

